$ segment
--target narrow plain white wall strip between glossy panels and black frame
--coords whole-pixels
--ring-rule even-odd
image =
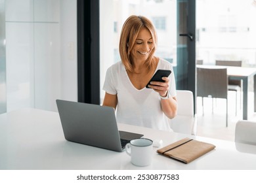
[[[62,98],[77,101],[77,3],[60,1],[60,61]]]

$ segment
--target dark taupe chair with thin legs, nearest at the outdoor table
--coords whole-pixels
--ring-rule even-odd
[[[196,92],[198,97],[226,99],[226,127],[228,126],[228,75],[226,68],[197,67]],[[203,111],[204,113],[204,111]]]

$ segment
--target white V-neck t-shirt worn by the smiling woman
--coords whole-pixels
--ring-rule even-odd
[[[171,70],[169,90],[171,96],[175,97],[176,85],[171,63],[160,59],[156,71],[158,69]],[[172,131],[167,117],[161,110],[158,92],[146,87],[141,90],[135,88],[121,61],[108,68],[103,90],[112,95],[117,94],[117,122]]]

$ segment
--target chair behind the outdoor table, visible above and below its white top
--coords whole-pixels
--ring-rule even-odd
[[[215,65],[242,67],[242,61],[216,60]],[[237,115],[237,98],[238,90],[240,91],[240,107],[242,99],[242,80],[228,80],[228,90],[236,92],[236,115]]]

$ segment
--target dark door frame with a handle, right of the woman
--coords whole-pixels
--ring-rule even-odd
[[[196,0],[177,0],[177,90],[190,90],[196,113]]]

